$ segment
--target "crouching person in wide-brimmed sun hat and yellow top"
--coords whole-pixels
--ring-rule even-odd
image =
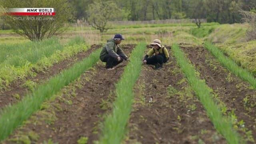
[[[155,39],[150,45],[152,49],[144,57],[143,63],[154,65],[155,69],[160,69],[169,60],[168,50],[161,45],[161,41],[158,39]]]

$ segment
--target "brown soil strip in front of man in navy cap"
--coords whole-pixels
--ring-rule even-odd
[[[133,48],[134,45],[122,47],[127,56]],[[111,110],[114,84],[121,77],[127,63],[124,61],[115,70],[108,71],[104,63],[98,62],[86,71],[79,81],[62,89],[62,94],[50,102],[50,108],[45,110],[53,117],[50,123],[46,115],[41,116],[38,112],[6,143],[17,142],[13,138],[29,136],[32,132],[38,135],[38,139],[33,140],[31,136],[29,139],[36,143],[51,139],[59,144],[76,144],[81,137],[87,137],[88,143],[92,144],[94,140],[98,140],[99,123],[103,120],[104,113]]]

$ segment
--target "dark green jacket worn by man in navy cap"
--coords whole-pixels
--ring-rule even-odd
[[[117,58],[118,56],[126,60],[128,57],[124,54],[123,50],[120,48],[119,44],[115,43],[115,40],[112,38],[107,41],[107,44],[103,46],[102,51],[100,52],[100,60],[103,61],[106,54]]]

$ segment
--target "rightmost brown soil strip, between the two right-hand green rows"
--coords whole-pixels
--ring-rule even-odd
[[[242,81],[234,74],[230,73],[203,47],[182,47],[190,61],[196,66],[200,76],[216,93],[227,106],[227,114],[232,113],[237,116],[236,126],[239,132],[247,140],[256,140],[256,90],[252,90],[247,82]],[[243,120],[245,123],[241,122]],[[252,134],[247,133],[248,130]]]

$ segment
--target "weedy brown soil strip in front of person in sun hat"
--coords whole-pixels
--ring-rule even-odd
[[[169,54],[161,70],[142,68],[125,143],[226,143]]]

